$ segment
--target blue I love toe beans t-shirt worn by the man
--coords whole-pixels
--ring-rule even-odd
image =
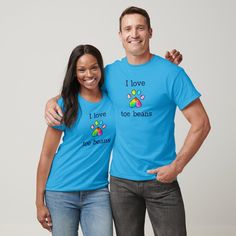
[[[176,158],[176,106],[182,110],[200,94],[181,67],[156,55],[141,65],[123,58],[105,71],[105,88],[116,117],[110,174],[130,180],[154,179],[147,170]]]

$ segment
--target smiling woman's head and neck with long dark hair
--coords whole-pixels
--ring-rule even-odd
[[[78,93],[91,102],[101,99],[104,83],[103,59],[92,45],[76,47],[70,56],[61,96],[64,102],[64,122],[70,127],[77,118]]]

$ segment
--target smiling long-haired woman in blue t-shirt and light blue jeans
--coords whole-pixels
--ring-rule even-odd
[[[84,236],[112,235],[107,186],[115,127],[103,82],[99,50],[76,47],[58,101],[63,124],[47,128],[37,172],[37,217],[55,236],[78,235],[79,224]]]

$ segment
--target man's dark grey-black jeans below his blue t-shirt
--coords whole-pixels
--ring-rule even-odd
[[[186,236],[185,212],[177,181],[110,179],[117,236],[144,236],[146,209],[155,236]]]

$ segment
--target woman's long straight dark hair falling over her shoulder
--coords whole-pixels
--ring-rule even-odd
[[[78,116],[78,93],[80,84],[76,76],[76,63],[78,59],[85,54],[90,54],[97,59],[98,66],[101,70],[101,80],[99,81],[99,87],[101,88],[104,83],[103,59],[100,51],[96,47],[88,44],[77,46],[70,55],[61,91],[61,96],[64,102],[63,121],[67,127],[71,127]]]

